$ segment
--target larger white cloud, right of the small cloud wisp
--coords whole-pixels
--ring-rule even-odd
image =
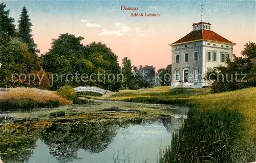
[[[107,30],[103,29],[102,32],[99,35],[117,35],[122,36],[125,33],[127,33],[131,28],[128,26],[125,26],[123,23],[116,22],[116,27],[120,27],[119,30]]]

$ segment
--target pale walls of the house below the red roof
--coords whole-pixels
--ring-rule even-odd
[[[198,61],[194,61],[194,52],[198,52]],[[207,52],[210,52],[210,61],[207,61]],[[213,61],[212,53],[216,53],[216,62]],[[185,53],[188,54],[188,62],[185,62]],[[172,86],[177,86],[180,81],[184,82],[184,69],[189,69],[193,80],[185,85],[206,86],[210,85],[210,82],[204,81],[203,76],[207,72],[207,68],[214,68],[219,65],[225,66],[225,62],[221,62],[221,53],[229,54],[232,60],[233,45],[218,43],[214,41],[194,41],[189,43],[181,43],[178,45],[172,45]],[[179,63],[176,63],[176,55],[179,55]],[[194,80],[194,69],[199,70],[199,79]],[[180,79],[176,80],[176,70],[180,71]],[[183,84],[183,85],[184,85]]]

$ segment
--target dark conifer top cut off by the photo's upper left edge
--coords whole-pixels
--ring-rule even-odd
[[[6,5],[4,5],[4,3],[0,4],[0,31],[7,33],[8,36],[14,36],[15,35],[15,25],[13,24],[14,19],[12,17],[9,17],[10,10],[5,11],[5,7]]]

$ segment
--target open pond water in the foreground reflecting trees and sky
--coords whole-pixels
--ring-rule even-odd
[[[160,148],[170,145],[172,133],[183,119],[176,114],[154,120],[61,123],[42,130],[22,130],[27,138],[19,145],[10,142],[0,147],[2,153],[8,147],[10,150],[1,157],[4,162],[91,163],[114,162],[115,158],[120,162],[157,162]],[[37,137],[29,135],[35,132]]]

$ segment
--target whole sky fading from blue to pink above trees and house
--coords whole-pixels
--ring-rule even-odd
[[[0,0],[1,1],[1,0]],[[256,42],[256,1],[50,1],[2,0],[10,16],[19,19],[26,6],[33,24],[37,48],[45,54],[53,38],[70,33],[83,36],[84,45],[93,41],[105,43],[118,56],[132,65],[153,65],[156,69],[172,63],[171,44],[192,31],[192,24],[211,23],[211,30],[237,43],[233,53],[240,56],[247,42]],[[121,10],[121,6],[138,11]],[[131,16],[131,13],[143,16]],[[145,13],[160,16],[146,17]]]

